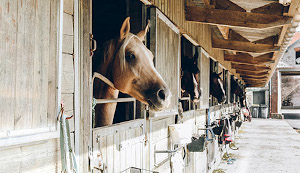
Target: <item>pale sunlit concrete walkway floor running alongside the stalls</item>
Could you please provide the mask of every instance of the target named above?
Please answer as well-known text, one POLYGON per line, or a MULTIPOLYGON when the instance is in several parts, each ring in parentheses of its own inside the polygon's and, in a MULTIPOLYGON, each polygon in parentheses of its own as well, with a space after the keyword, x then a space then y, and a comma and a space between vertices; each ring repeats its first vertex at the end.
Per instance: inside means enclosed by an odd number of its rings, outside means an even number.
POLYGON ((285 120, 252 119, 236 136, 229 149, 236 161, 222 161, 214 172, 221 173, 300 173, 300 134, 285 120))

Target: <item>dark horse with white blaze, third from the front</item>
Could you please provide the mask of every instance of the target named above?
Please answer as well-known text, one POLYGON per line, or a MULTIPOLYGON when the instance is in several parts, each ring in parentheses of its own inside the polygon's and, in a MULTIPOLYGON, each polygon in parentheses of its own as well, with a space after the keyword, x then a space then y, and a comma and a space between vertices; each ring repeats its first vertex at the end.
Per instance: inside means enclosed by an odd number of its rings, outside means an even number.
POLYGON ((226 93, 223 87, 223 80, 221 79, 221 73, 215 72, 210 74, 210 94, 217 98, 218 103, 224 103, 226 101, 226 93))

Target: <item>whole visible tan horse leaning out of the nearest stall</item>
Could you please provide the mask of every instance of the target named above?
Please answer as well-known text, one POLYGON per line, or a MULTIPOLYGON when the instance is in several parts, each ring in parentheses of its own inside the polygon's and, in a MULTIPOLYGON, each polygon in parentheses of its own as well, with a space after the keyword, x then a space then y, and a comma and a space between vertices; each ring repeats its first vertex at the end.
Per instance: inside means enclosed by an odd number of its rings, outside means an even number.
MULTIPOLYGON (((94 80, 93 96, 99 99, 117 99, 119 91, 149 105, 154 111, 166 109, 171 101, 171 91, 154 68, 153 54, 143 44, 149 28, 138 34, 130 33, 130 17, 120 29, 120 35, 104 43, 100 63, 93 64, 94 74, 105 80, 94 80)), ((97 62, 96 60, 93 63, 97 62)), ((95 75, 94 75, 95 76, 95 75)), ((95 127, 113 123, 117 103, 99 104, 95 107, 95 127)))

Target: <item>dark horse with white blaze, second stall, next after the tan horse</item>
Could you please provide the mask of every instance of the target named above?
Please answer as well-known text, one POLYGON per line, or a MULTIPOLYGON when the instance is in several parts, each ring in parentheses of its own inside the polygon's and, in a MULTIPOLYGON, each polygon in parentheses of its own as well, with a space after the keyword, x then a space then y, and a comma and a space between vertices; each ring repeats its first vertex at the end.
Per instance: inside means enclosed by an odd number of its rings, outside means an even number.
POLYGON ((198 51, 192 58, 182 56, 181 61, 181 94, 187 92, 190 95, 192 102, 199 102, 201 95, 198 85, 198 74, 200 70, 197 66, 198 51))

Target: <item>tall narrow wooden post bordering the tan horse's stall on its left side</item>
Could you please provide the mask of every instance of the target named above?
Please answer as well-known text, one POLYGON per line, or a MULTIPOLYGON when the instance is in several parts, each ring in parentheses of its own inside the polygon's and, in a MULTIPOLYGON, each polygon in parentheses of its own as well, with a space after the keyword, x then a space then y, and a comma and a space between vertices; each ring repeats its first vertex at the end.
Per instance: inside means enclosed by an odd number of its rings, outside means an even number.
POLYGON ((86 0, 81 2, 81 10, 83 12, 83 15, 81 20, 84 25, 82 25, 82 37, 80 40, 81 46, 82 46, 82 66, 80 69, 82 69, 82 74, 80 74, 80 81, 82 84, 81 85, 81 93, 82 94, 82 100, 81 100, 81 105, 80 107, 82 108, 81 112, 81 121, 80 123, 80 155, 81 159, 79 162, 79 166, 81 169, 81 172, 89 172, 89 163, 88 163, 88 148, 91 146, 90 142, 90 137, 91 137, 91 100, 92 100, 92 95, 91 95, 91 58, 90 58, 90 35, 89 33, 91 32, 91 1, 86 0))

